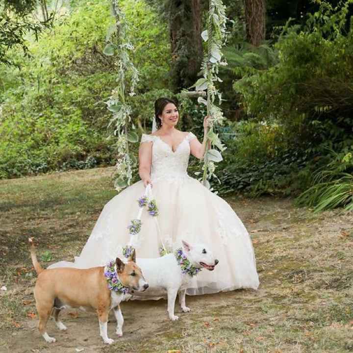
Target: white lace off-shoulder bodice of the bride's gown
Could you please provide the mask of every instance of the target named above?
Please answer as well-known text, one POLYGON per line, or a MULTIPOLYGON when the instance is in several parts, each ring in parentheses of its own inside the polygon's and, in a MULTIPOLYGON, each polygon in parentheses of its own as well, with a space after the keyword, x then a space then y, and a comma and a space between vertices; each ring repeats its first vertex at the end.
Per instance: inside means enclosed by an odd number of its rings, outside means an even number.
POLYGON ((196 136, 189 132, 177 146, 176 151, 159 136, 143 134, 141 143, 152 142, 152 182, 158 179, 180 179, 187 175, 190 156, 190 141, 196 136))

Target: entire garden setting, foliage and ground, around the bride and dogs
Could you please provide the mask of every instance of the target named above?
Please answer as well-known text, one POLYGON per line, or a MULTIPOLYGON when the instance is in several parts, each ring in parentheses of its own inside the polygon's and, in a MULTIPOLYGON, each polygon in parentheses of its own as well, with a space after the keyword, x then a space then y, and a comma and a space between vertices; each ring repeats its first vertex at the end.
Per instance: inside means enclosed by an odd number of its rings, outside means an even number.
POLYGON ((129 127, 150 133, 153 101, 171 96, 178 127, 202 137, 205 106, 182 91, 201 77, 207 0, 0 0, 0 352, 352 352, 353 0, 223 0, 215 132, 227 149, 210 181, 249 231, 259 289, 188 298, 177 323, 165 301, 122 303, 124 336, 111 316, 109 347, 96 316, 75 310, 67 331, 50 321, 55 344, 40 336, 28 237, 43 267, 71 261, 117 193, 113 2, 140 74, 129 127))

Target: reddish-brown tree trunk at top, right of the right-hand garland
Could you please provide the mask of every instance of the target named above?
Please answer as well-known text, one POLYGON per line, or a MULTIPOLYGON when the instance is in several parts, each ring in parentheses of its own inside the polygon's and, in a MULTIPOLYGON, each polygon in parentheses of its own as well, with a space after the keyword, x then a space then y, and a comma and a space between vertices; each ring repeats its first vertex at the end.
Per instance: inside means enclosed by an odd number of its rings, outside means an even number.
POLYGON ((247 39, 253 46, 258 47, 266 35, 266 1, 244 0, 244 7, 247 39))

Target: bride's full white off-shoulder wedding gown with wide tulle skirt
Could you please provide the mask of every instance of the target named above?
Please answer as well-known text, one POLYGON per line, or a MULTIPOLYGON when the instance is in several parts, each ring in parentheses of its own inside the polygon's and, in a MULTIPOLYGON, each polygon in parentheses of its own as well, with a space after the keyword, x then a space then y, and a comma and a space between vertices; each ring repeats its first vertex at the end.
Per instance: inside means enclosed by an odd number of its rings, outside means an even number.
MULTIPOLYGON (((246 228, 227 202, 186 172, 189 143, 193 138, 196 136, 190 132, 173 152, 158 136, 142 135, 141 143, 153 144, 151 181, 159 215, 152 217, 147 210, 143 211, 137 257, 160 256, 160 237, 169 250, 179 248, 181 240, 191 244, 200 242, 211 249, 219 264, 214 271, 204 269, 193 277, 187 294, 256 289, 259 279, 246 228)), ((143 182, 138 181, 115 196, 104 206, 75 262, 61 261, 50 268, 103 266, 121 255, 122 247, 130 239, 127 226, 136 218, 139 212, 137 200, 144 193, 143 182)))

